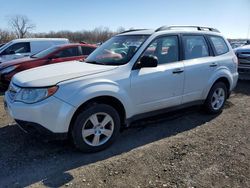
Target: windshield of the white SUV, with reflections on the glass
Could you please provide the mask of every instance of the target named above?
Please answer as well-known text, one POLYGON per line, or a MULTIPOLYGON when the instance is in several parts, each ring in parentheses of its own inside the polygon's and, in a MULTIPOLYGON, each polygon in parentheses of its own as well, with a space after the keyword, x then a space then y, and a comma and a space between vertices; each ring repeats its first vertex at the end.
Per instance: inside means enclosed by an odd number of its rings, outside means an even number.
POLYGON ((122 65, 130 61, 148 35, 124 35, 109 39, 86 59, 87 63, 122 65))

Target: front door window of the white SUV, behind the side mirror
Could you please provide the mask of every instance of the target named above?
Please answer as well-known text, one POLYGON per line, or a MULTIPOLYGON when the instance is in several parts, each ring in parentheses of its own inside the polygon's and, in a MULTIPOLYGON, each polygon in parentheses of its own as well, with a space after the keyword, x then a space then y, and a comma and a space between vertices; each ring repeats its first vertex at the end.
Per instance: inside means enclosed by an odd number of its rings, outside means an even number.
POLYGON ((176 62, 179 59, 177 36, 166 36, 155 39, 142 56, 153 55, 158 59, 158 64, 176 62))

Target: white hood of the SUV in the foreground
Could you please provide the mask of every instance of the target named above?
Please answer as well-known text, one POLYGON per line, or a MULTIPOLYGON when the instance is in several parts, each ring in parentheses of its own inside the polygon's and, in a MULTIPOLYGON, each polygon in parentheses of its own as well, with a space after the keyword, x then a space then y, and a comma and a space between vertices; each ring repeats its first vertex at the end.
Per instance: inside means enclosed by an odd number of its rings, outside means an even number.
POLYGON ((13 77, 12 82, 20 87, 46 87, 65 80, 97 74, 115 68, 117 66, 68 61, 20 72, 13 77))

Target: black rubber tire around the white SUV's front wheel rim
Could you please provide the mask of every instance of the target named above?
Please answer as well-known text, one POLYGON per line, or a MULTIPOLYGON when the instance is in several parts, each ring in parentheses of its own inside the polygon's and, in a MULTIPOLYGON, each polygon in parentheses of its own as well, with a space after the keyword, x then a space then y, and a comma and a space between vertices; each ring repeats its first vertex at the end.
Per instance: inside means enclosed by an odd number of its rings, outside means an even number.
MULTIPOLYGON (((94 125, 94 124, 92 124, 92 125, 94 125)), ((115 139, 119 135, 120 126, 121 126, 120 116, 112 106, 109 106, 106 104, 93 104, 77 116, 76 121, 75 121, 73 128, 72 128, 72 131, 71 131, 73 143, 74 143, 75 147, 77 149, 81 150, 82 152, 90 153, 90 152, 101 151, 101 150, 109 147, 115 141, 115 139), (86 140, 86 138, 84 138, 84 136, 82 135, 82 130, 83 130, 85 124, 91 122, 89 120, 89 118, 92 115, 98 114, 98 113, 108 114, 112 118, 112 120, 113 120, 113 126, 112 126, 113 132, 112 132, 112 135, 110 136, 110 138, 102 145, 91 146, 90 143, 87 143, 88 140, 86 140)), ((92 135, 93 135, 93 140, 94 140, 95 134, 92 134, 92 135)), ((102 136, 106 136, 106 135, 103 134, 102 136)), ((99 138, 100 138, 100 136, 99 136, 99 138)))

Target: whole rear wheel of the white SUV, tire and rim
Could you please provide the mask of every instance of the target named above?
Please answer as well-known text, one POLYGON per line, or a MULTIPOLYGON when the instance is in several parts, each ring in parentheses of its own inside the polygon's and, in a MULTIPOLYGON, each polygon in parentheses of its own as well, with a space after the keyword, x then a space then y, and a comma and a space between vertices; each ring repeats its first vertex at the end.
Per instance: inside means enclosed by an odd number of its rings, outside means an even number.
POLYGON ((211 114, 222 112, 226 102, 228 90, 223 82, 217 82, 210 89, 207 99, 205 101, 205 110, 211 114))

